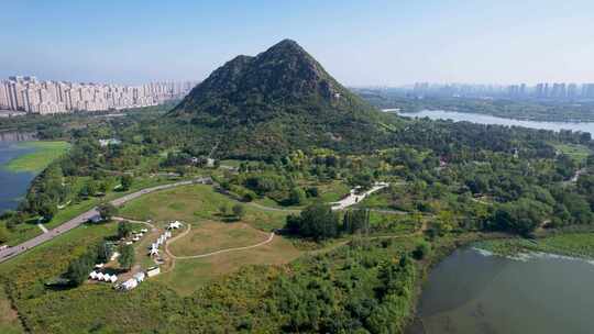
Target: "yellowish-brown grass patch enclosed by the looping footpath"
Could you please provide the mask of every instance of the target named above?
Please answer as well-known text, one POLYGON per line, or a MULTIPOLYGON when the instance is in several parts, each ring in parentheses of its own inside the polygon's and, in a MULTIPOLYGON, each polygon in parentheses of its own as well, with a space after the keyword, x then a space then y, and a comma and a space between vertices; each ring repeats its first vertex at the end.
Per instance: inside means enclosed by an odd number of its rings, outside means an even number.
POLYGON ((244 223, 198 223, 189 234, 169 245, 176 256, 191 256, 220 249, 244 247, 268 238, 268 234, 244 223))

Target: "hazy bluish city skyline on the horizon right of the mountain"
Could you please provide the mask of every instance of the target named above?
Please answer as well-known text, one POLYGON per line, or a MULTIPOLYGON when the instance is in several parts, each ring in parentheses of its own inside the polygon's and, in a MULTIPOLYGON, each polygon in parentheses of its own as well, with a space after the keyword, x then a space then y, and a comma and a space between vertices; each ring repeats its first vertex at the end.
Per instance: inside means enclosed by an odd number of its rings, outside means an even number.
POLYGON ((594 84, 468 85, 418 82, 404 89, 414 97, 509 98, 543 100, 592 100, 594 84))

